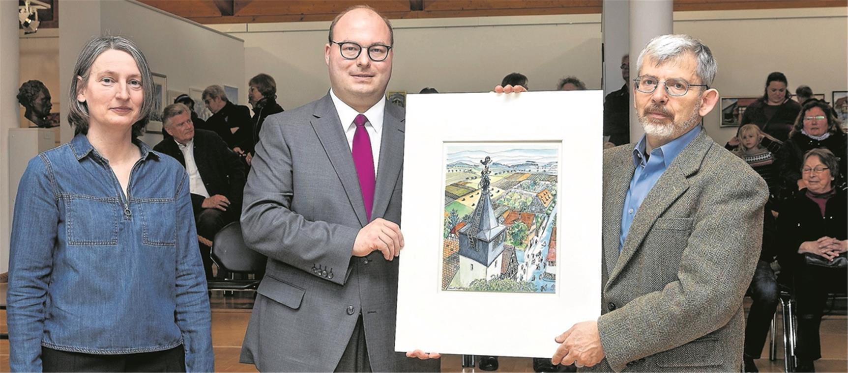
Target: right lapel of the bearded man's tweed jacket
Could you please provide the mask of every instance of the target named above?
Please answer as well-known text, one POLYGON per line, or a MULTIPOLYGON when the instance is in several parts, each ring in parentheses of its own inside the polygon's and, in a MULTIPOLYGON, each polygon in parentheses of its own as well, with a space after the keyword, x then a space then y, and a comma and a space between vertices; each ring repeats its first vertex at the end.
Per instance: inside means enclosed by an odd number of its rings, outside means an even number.
MULTIPOLYGON (((650 192, 648 192, 648 195, 642 201, 642 205, 639 206, 639 211, 636 211, 636 216, 633 217, 633 224, 630 225, 628 237, 624 239, 622 252, 618 255, 618 260, 610 273, 607 284, 615 280, 616 276, 624 269, 624 266, 627 266, 628 261, 636 253, 636 250, 641 248, 645 236, 647 236, 650 228, 654 226, 656 219, 669 206, 672 206, 672 203, 680 195, 683 195, 683 192, 689 189, 688 178, 698 172, 706 156, 706 151, 710 149, 711 145, 712 140, 702 129, 700 134, 674 158, 666 171, 656 181, 654 187, 650 189, 650 192)), ((621 209, 617 213, 619 216, 619 226, 621 226, 621 209)))

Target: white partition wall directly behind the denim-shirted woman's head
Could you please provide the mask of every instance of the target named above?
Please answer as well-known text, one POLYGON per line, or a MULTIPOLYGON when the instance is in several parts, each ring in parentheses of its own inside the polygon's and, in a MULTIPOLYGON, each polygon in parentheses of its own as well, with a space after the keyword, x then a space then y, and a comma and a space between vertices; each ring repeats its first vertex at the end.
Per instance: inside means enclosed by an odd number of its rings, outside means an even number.
MULTIPOLYGON (((203 90, 208 85, 231 85, 238 87, 239 101, 247 101, 244 46, 235 36, 134 1, 63 3, 59 33, 60 54, 66 52, 59 58, 64 71, 62 87, 70 85, 71 70, 86 41, 96 35, 116 35, 134 41, 150 69, 167 76, 166 90, 188 93, 189 87, 203 90)), ((64 107, 62 139, 67 141, 73 135, 70 128, 64 128, 64 107)), ((152 140, 146 141, 155 145, 161 136, 148 138, 152 140)))

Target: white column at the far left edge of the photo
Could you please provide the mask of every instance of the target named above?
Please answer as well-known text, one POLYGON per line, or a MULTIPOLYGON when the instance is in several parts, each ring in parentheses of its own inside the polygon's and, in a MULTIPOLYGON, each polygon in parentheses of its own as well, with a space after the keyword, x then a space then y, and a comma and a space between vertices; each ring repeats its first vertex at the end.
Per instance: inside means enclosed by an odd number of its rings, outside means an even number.
POLYGON ((8 271, 12 196, 8 185, 8 130, 18 123, 18 2, 0 1, 0 272, 8 271))

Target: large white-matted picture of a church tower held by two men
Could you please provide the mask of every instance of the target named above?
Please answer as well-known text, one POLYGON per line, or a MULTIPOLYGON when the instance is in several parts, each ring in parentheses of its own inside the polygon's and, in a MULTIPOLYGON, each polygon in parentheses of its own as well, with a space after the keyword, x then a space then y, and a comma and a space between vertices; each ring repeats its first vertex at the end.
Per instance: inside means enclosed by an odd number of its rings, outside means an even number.
POLYGON ((603 92, 406 98, 395 350, 552 356, 600 315, 603 92))

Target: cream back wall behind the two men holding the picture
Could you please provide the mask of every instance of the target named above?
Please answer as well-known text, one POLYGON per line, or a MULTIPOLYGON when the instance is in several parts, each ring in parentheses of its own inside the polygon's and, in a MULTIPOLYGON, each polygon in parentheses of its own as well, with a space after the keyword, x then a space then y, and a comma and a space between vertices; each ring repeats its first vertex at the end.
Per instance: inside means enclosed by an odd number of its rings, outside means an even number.
MULTIPOLYGON (((828 101, 831 91, 848 86, 845 7, 676 12, 674 19, 674 32, 711 47, 719 64, 714 85, 722 95, 761 94, 772 71, 783 71, 792 91, 810 85, 828 101)), ((601 88, 600 14, 397 19, 393 25, 397 48, 389 91, 412 93, 425 86, 490 91, 513 71, 527 74, 533 90, 552 90, 569 74, 590 89, 601 88)), ((323 60, 328 27, 329 22, 215 26, 244 39, 244 80, 271 74, 286 108, 313 101, 329 88, 323 60)), ((620 72, 607 76, 611 85, 623 84, 620 72)), ((735 129, 719 128, 718 118, 714 110, 705 124, 723 143, 735 129)))

